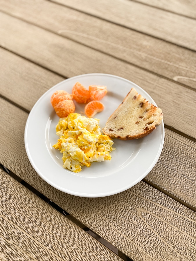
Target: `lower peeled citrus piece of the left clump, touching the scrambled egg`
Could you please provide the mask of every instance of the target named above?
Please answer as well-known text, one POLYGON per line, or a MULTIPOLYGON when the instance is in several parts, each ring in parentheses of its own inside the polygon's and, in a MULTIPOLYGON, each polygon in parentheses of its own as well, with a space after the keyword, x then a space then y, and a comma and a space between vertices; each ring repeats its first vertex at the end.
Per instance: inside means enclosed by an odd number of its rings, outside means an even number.
POLYGON ((69 113, 74 113, 75 111, 75 104, 73 100, 64 100, 60 101, 58 104, 54 106, 56 114, 60 118, 67 117, 69 113))

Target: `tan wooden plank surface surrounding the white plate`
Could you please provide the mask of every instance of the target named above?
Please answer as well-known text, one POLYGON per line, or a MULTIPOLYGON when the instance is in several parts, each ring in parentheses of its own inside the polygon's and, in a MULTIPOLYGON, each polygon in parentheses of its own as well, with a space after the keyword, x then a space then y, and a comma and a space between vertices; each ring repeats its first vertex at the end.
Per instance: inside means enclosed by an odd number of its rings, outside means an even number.
MULTIPOLYGON (((196 138, 196 20, 194 2, 181 13, 185 4, 0 0, 0 163, 133 260, 196 259, 196 144, 190 140, 196 138), (54 189, 34 171, 25 151, 24 128, 28 112, 46 90, 67 77, 96 72, 141 86, 162 108, 166 126, 192 138, 166 128, 161 156, 144 179, 148 184, 141 181, 109 197, 82 198, 54 189)), ((36 254, 51 260, 54 253, 53 260, 62 260, 67 253, 67 260, 105 260, 105 255, 119 260, 0 174, 1 258, 19 260, 21 253, 24 260, 36 259, 36 254), (31 222, 25 222, 27 218, 31 222), (74 242, 85 246, 79 255, 74 242), (7 245, 15 249, 12 256, 7 245)))

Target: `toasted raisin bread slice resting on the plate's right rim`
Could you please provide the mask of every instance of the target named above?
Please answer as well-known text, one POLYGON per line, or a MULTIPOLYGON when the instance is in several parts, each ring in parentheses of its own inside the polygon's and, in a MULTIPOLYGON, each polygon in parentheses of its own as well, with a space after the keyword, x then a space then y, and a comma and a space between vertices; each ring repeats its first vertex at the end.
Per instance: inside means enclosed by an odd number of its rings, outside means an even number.
POLYGON ((150 104, 134 88, 109 117, 103 133, 123 140, 139 139, 150 134, 163 119, 160 108, 150 104))

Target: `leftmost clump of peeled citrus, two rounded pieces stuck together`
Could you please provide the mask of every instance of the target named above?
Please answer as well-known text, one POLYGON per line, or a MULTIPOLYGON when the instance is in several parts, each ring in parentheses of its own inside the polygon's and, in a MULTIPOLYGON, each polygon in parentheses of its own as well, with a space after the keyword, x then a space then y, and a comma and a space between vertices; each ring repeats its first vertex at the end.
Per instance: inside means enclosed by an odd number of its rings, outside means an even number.
POLYGON ((53 93, 51 104, 60 118, 66 117, 69 113, 75 111, 75 104, 71 95, 64 90, 57 90, 53 93))

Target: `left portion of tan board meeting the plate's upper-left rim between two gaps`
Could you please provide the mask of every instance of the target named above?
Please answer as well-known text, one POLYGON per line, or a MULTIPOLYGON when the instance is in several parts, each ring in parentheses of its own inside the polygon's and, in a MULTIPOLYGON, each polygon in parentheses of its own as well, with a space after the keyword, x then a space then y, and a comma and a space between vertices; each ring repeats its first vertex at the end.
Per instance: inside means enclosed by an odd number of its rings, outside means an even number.
POLYGON ((26 110, 30 111, 38 97, 65 79, 2 48, 0 57, 0 93, 26 110))

